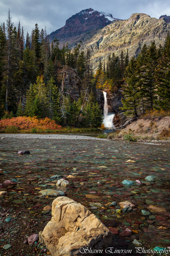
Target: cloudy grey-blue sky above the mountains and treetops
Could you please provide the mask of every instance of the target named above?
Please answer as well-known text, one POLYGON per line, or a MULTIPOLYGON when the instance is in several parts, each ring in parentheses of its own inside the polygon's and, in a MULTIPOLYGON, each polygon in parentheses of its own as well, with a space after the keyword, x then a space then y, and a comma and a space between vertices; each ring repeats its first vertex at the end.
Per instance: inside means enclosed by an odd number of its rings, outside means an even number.
POLYGON ((111 13, 113 17, 127 19, 132 13, 143 12, 151 17, 170 15, 170 0, 0 0, 0 23, 6 21, 10 8, 14 26, 20 20, 29 34, 38 23, 51 33, 65 25, 72 15, 88 8, 111 13))

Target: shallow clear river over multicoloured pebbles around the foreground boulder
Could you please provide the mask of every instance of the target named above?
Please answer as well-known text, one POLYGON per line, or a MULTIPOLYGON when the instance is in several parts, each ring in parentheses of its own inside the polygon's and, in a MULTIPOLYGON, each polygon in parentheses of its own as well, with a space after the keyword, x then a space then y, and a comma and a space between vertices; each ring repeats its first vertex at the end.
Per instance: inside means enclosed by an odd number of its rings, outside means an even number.
POLYGON ((0 243, 12 246, 8 251, 1 247, 2 253, 6 253, 2 255, 46 255, 45 247, 40 244, 31 246, 23 242, 42 230, 51 219, 51 212, 43 208, 51 205, 54 198, 42 198, 38 192, 57 189, 57 179, 50 178, 53 175, 66 178, 69 186, 59 190, 88 207, 107 227, 115 227, 118 233, 126 228, 133 230, 131 237, 119 234, 113 237, 118 246, 128 247, 137 239, 147 248, 169 247, 169 152, 169 143, 148 145, 122 140, 42 140, 36 137, 0 140, 0 168, 4 170, 0 173, 0 183, 12 179, 17 183, 0 189, 7 191, 0 203, 3 227, 0 243), (29 150, 30 154, 18 155, 19 150, 29 150), (148 175, 155 180, 145 180, 148 175), (125 186, 123 180, 134 183, 125 186), (116 206, 110 206, 113 201, 116 206), (122 201, 132 202, 135 209, 117 211, 122 201), (101 207, 96 209, 91 203, 100 203, 101 207), (150 211, 152 217, 142 215, 141 210, 149 211, 150 205, 161 207, 162 211, 150 211))

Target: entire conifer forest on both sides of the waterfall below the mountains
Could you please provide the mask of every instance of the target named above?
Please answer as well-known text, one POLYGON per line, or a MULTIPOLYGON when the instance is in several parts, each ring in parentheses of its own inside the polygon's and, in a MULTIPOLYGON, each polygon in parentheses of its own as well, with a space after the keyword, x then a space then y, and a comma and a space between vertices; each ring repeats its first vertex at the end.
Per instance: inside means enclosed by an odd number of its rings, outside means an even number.
POLYGON ((122 111, 140 116, 147 110, 170 109, 170 35, 156 48, 153 41, 144 44, 139 55, 129 60, 128 50, 99 61, 94 72, 91 52, 59 47, 50 42, 46 29, 38 24, 24 37, 20 21, 14 27, 10 10, 0 26, 0 118, 13 116, 48 117, 59 125, 100 127, 102 110, 96 90, 123 90, 122 111), (71 99, 64 93, 57 72, 62 67, 75 70, 81 82, 80 96, 71 99))

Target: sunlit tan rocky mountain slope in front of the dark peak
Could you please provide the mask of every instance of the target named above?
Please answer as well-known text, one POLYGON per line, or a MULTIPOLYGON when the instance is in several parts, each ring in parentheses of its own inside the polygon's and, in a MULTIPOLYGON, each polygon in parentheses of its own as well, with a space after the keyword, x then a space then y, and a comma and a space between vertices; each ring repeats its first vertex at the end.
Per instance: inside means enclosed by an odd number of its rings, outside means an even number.
POLYGON ((136 13, 127 20, 114 20, 98 31, 91 39, 82 42, 82 49, 91 49, 92 65, 94 69, 99 64, 99 59, 107 62, 108 55, 121 51, 129 51, 129 56, 136 56, 144 44, 149 45, 155 40, 156 46, 163 46, 167 32, 170 31, 170 23, 164 20, 152 18, 143 13, 136 13))

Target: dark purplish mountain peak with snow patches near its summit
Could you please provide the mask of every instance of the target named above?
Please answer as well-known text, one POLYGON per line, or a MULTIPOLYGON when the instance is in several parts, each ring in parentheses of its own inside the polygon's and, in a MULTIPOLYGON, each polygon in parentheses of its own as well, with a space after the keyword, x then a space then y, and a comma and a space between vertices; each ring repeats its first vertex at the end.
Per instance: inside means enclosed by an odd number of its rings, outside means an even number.
POLYGON ((59 39, 61 47, 67 42, 69 47, 74 47, 80 40, 85 42, 113 20, 119 19, 113 18, 111 14, 98 12, 91 8, 85 9, 66 20, 65 26, 52 32, 49 38, 51 41, 55 37, 59 39))

